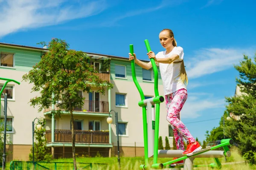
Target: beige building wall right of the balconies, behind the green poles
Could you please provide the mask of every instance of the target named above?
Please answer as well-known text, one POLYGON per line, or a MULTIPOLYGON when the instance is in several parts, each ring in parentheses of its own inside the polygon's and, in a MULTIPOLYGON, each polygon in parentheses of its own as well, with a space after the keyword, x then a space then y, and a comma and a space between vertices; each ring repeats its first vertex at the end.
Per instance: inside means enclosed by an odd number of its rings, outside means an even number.
MULTIPOLYGON (((111 109, 118 112, 119 122, 127 123, 127 135, 119 136, 119 144, 123 147, 134 147, 135 142, 137 147, 144 147, 143 142, 143 117, 142 108, 138 105, 140 101, 140 94, 134 84, 134 82, 129 82, 125 80, 111 80, 114 84, 114 88, 111 89, 111 109), (127 107, 116 106, 115 95, 116 93, 127 94, 126 101, 127 107)), ((143 82, 140 83, 145 96, 154 96, 154 83, 143 82)), ((163 94, 163 85, 158 85, 159 94, 163 94)), ((114 115, 113 115, 114 116, 114 115)), ((165 137, 169 139, 169 144, 172 147, 172 139, 169 138, 169 122, 166 120, 167 112, 165 101, 160 104, 160 127, 159 136, 162 136, 163 146, 165 147, 165 137)), ((114 117, 113 117, 114 119, 114 117)), ((112 142, 114 146, 117 145, 116 139, 116 126, 115 121, 111 125, 112 128, 112 142)))

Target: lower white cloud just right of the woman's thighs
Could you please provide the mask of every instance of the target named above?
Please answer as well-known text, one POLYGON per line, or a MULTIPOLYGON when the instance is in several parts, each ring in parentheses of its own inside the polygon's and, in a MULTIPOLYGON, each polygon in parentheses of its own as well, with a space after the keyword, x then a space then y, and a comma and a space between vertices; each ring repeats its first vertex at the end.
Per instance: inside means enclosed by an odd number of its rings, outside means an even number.
POLYGON ((202 116, 200 112, 213 108, 224 108, 225 100, 212 97, 213 94, 207 93, 189 93, 182 110, 181 119, 197 118, 202 116), (207 97, 206 97, 207 96, 207 97))

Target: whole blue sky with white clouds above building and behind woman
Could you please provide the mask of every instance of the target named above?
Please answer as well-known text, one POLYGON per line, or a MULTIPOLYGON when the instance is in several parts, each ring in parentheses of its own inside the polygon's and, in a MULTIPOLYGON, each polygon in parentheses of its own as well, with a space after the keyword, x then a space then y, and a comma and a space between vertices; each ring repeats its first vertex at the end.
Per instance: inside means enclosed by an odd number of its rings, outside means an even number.
MULTIPOLYGON (((128 57, 129 44, 148 59, 144 40, 162 51, 163 28, 184 49, 189 77, 181 119, 200 141, 218 126, 225 96, 235 93, 233 65, 256 52, 254 0, 0 0, 0 42, 38 46, 53 37, 70 48, 128 57)), ((39 47, 39 46, 38 46, 39 47)))

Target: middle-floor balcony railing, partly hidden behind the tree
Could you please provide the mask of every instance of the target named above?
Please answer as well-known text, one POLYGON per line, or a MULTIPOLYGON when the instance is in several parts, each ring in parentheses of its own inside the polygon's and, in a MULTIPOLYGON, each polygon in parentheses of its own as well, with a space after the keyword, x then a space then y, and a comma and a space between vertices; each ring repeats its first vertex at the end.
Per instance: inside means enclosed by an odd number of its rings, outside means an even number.
MULTIPOLYGON (((56 107, 56 105, 55 105, 56 107)), ((58 108, 56 108, 58 109, 58 108)), ((46 109, 44 112, 51 111, 52 108, 46 109)), ((83 107, 74 108, 74 111, 78 112, 94 112, 94 113, 108 113, 108 102, 95 101, 95 100, 84 100, 83 107)))

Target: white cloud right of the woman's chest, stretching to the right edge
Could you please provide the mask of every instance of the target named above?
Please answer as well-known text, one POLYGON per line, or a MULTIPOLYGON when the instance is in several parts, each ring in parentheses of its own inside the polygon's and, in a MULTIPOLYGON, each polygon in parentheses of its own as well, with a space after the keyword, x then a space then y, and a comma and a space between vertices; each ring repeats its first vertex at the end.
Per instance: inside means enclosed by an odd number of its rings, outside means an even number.
POLYGON ((243 54, 253 56, 253 48, 204 48, 195 52, 194 57, 188 57, 186 69, 189 79, 195 79, 207 74, 233 68, 243 59, 243 54))

